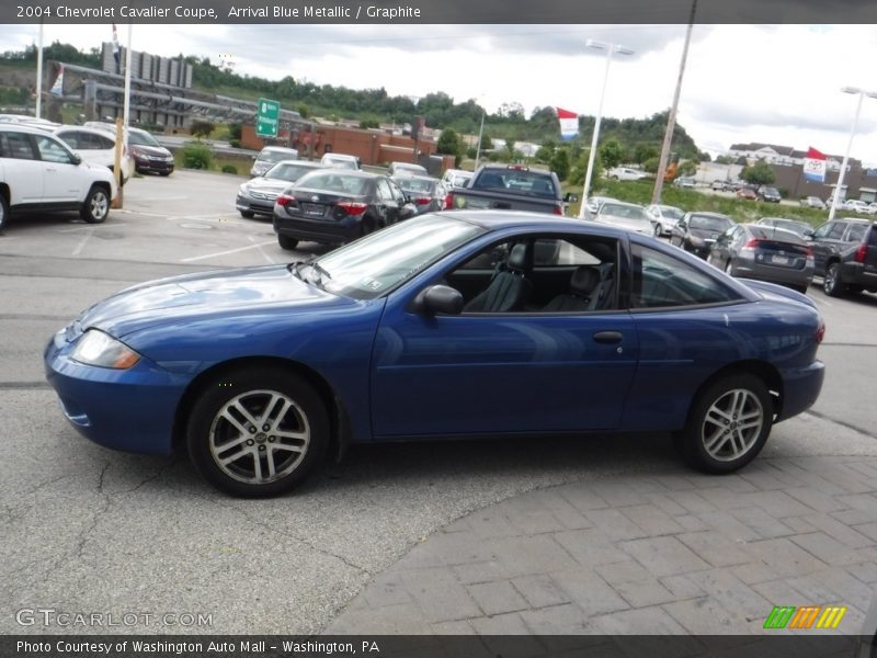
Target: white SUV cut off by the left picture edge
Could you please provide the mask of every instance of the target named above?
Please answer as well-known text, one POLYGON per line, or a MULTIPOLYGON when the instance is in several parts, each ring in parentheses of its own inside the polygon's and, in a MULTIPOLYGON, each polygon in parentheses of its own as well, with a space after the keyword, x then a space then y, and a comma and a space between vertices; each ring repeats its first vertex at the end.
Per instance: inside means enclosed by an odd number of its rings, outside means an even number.
POLYGON ((79 211, 89 224, 110 214, 112 172, 89 164, 60 139, 24 125, 0 125, 0 228, 18 211, 79 211))

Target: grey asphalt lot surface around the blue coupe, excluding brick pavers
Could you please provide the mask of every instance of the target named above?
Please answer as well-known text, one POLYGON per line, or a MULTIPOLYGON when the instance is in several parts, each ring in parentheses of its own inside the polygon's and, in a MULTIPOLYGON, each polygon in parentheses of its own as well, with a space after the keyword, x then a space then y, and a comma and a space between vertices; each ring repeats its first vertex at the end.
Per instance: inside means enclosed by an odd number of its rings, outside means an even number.
MULTIPOLYGON (((389 445, 353 451, 294 496, 241 501, 216 494, 182 456, 113 453, 81 439, 44 383, 41 352, 54 331, 147 279, 299 258, 280 248, 270 222, 240 218, 240 182, 189 171, 134 179, 125 208, 103 225, 27 217, 0 237, 0 632, 46 632, 14 616, 44 606, 213 615, 209 627, 166 632, 314 633, 467 512, 563 483, 686 473, 665 436, 546 440, 538 461, 525 441, 389 445)), ((303 243, 299 254, 326 250, 303 243)), ((828 325, 823 394, 811 413, 776 427, 762 458, 877 455, 877 297, 809 294, 828 325)), ((160 628, 113 629, 127 631, 160 628)))

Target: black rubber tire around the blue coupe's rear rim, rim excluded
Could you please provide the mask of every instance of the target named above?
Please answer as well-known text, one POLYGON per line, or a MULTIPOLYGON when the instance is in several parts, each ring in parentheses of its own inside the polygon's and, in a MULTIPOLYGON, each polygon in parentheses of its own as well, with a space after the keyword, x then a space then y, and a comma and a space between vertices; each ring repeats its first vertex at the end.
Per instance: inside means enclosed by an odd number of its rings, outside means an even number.
POLYGON ((773 400, 764 383, 755 375, 748 373, 729 375, 709 384, 697 396, 688 413, 688 422, 685 426, 685 430, 679 436, 676 446, 685 461, 698 470, 713 474, 733 473, 758 456, 771 434, 772 426, 773 400), (737 388, 747 389, 759 398, 762 409, 764 410, 764 418, 762 419, 761 432, 749 451, 737 460, 721 462, 707 453, 704 446, 702 429, 706 412, 713 404, 729 390, 737 388))

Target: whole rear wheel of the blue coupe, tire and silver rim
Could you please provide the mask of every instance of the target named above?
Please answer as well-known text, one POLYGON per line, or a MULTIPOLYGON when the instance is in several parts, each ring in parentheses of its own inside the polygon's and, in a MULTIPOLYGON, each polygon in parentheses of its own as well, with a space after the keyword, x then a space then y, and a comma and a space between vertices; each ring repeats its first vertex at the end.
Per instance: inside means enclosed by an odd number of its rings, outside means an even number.
POLYGON ((676 449, 692 467, 704 473, 733 473, 764 447, 773 424, 773 400, 756 376, 722 377, 694 402, 676 449))

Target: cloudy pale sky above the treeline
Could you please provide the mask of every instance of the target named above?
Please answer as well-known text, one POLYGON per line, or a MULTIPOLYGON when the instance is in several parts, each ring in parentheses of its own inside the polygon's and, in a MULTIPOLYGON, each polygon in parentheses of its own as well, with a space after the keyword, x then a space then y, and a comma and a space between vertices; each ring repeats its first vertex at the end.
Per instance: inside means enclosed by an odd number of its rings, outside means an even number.
MULTIPOLYGON (((10 26, 11 27, 11 26, 10 26)), ((240 73, 390 95, 444 91, 488 111, 517 102, 594 115, 606 68, 588 39, 620 44, 613 57, 603 116, 642 118, 667 110, 685 25, 136 25, 133 48, 183 53, 240 73)), ((4 29, 0 50, 37 41, 38 27, 4 29)), ((110 41, 107 25, 45 25, 44 43, 82 49, 110 41)), ((127 25, 118 26, 123 45, 127 25)), ((677 123, 713 156, 760 141, 843 156, 858 97, 877 92, 876 25, 695 25, 677 123)), ((851 156, 877 166, 877 99, 864 98, 851 156)))

